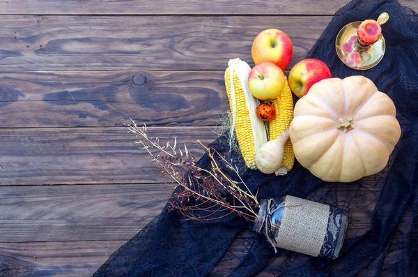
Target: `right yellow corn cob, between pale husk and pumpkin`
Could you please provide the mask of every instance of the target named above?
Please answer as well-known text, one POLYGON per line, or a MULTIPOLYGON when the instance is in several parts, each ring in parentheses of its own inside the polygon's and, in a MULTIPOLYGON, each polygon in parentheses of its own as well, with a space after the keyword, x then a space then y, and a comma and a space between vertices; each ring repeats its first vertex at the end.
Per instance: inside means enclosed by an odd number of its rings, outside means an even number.
MULTIPOLYGON (((274 140, 283 133, 284 130, 291 126, 293 119, 293 98, 287 78, 284 81, 284 88, 283 91, 281 91, 281 95, 273 100, 273 106, 276 110, 276 116, 269 123, 269 140, 274 140)), ((295 153, 293 153, 291 140, 288 140, 284 145, 283 161, 281 162, 281 167, 276 172, 276 175, 286 174, 292 169, 294 163, 295 153)))

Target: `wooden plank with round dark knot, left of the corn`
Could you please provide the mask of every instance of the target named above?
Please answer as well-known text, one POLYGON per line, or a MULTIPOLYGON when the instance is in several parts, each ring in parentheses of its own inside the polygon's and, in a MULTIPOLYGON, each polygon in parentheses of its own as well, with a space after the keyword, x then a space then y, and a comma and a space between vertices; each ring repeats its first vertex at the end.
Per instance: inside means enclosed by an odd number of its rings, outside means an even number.
POLYGON ((229 110, 224 70, 0 74, 0 128, 214 126, 229 110))

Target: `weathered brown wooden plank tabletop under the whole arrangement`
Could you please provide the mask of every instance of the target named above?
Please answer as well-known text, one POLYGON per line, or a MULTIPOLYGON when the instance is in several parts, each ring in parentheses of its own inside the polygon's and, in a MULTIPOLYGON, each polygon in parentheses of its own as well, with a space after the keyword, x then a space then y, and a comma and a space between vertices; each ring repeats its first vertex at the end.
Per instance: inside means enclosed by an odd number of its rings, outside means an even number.
POLYGON ((0 276, 93 274, 171 194, 123 124, 200 156, 229 109, 228 60, 252 66, 277 28, 292 66, 346 3, 1 0, 0 276))

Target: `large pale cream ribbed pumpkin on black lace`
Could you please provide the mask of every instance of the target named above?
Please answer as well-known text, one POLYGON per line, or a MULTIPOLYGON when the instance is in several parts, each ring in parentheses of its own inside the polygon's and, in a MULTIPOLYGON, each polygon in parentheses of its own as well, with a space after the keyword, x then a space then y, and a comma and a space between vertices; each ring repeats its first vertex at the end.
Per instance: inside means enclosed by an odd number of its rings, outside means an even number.
POLYGON ((295 157, 324 181, 376 174, 401 137, 395 115, 392 100, 366 77, 321 80, 295 105, 295 157))

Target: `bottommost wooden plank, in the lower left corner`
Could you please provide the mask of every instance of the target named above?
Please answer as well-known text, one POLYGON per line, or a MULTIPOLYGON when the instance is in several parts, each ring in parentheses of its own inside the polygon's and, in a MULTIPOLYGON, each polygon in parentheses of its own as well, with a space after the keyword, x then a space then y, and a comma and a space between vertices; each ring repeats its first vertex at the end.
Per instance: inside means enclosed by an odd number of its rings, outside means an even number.
POLYGON ((0 275, 91 276, 125 241, 0 244, 0 275))

